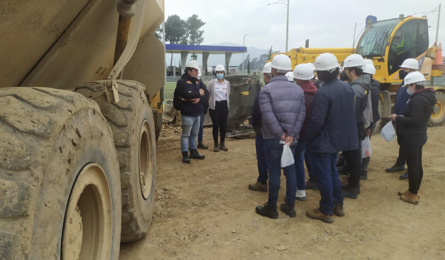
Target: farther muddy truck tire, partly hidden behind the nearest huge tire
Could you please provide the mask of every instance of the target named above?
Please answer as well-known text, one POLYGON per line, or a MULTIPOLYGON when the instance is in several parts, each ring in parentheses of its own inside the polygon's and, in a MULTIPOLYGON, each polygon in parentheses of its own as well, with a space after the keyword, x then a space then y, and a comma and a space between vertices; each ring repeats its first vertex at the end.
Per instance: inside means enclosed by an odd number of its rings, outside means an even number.
POLYGON ((107 103, 103 81, 86 83, 75 91, 96 101, 111 126, 122 183, 121 241, 129 242, 144 237, 153 218, 155 127, 144 85, 123 80, 117 83, 118 103, 107 103))

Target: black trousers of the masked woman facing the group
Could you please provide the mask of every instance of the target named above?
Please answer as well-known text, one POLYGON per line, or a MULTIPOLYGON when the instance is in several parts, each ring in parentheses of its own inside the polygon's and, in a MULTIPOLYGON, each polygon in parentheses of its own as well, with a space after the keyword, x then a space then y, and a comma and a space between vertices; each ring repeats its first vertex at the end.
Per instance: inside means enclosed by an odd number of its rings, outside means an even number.
POLYGON ((220 133, 220 141, 223 143, 226 138, 227 118, 229 118, 229 107, 227 101, 216 101, 215 109, 209 109, 210 118, 213 125, 213 141, 218 144, 218 132, 220 133))

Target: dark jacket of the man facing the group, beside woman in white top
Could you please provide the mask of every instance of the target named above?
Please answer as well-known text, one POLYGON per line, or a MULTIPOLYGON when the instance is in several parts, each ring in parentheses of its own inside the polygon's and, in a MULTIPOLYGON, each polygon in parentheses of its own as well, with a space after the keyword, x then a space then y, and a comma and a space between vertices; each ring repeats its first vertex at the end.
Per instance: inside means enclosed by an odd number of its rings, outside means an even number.
POLYGON ((203 113, 203 103, 199 102, 196 105, 192 104, 190 99, 201 99, 199 93, 200 83, 195 77, 190 77, 187 74, 183 74, 181 79, 176 83, 175 93, 173 99, 180 100, 186 99, 186 101, 180 102, 181 115, 184 116, 201 116, 203 113))

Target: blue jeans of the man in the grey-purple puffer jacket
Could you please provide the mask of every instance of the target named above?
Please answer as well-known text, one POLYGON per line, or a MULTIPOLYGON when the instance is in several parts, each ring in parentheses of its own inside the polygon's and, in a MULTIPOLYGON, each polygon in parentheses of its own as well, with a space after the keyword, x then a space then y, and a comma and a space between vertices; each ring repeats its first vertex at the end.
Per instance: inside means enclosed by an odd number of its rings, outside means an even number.
MULTIPOLYGON (((283 144, 280 138, 264 139, 264 149, 267 151, 267 166, 269 170, 269 200, 268 205, 277 206, 278 192, 280 189, 281 177, 281 155, 283 154, 283 144)), ((290 146, 292 154, 295 153, 295 145, 290 146)), ((286 177, 286 201, 294 203, 296 194, 295 164, 283 168, 286 177)))

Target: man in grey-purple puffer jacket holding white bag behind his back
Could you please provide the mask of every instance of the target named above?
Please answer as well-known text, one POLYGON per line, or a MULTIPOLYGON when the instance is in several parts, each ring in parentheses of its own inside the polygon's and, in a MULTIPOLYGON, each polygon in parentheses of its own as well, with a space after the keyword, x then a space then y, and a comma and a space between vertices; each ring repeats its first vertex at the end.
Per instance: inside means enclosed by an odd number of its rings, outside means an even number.
MULTIPOLYGON (((269 172, 269 198, 263 206, 255 208, 255 212, 268 218, 278 218, 277 200, 280 188, 281 155, 283 146, 288 144, 292 155, 303 122, 305 121, 305 99, 303 90, 290 83, 285 74, 291 68, 290 57, 276 55, 270 66, 272 67, 272 79, 259 92, 259 109, 262 114, 262 131, 264 148, 269 172)), ((280 205, 281 211, 296 217, 295 194, 296 175, 295 165, 283 167, 286 178, 286 203, 280 205)))

